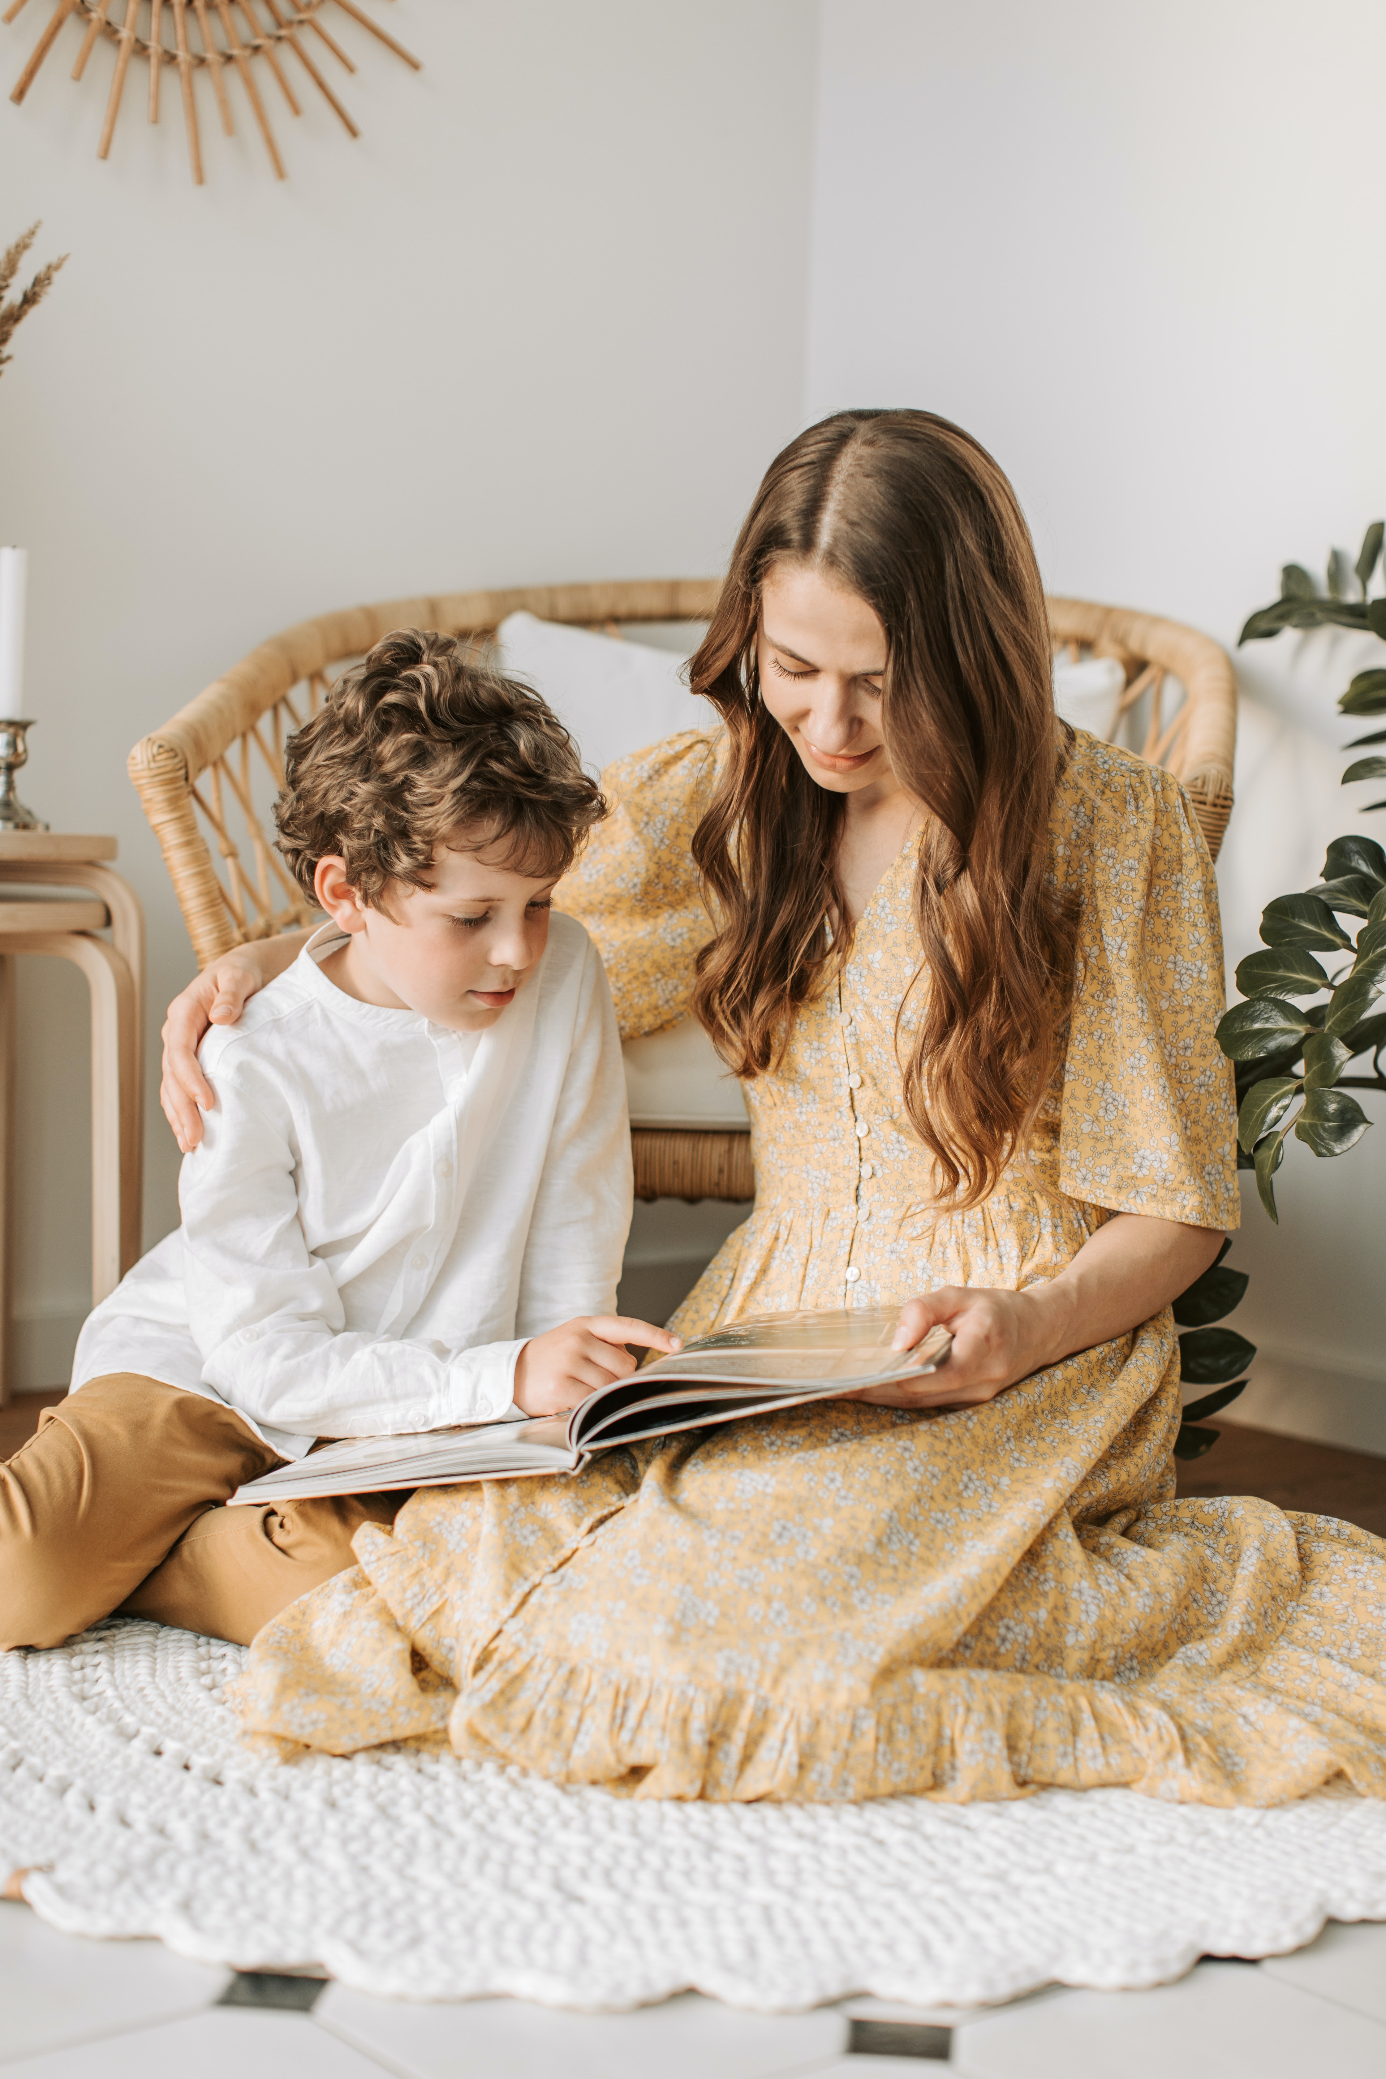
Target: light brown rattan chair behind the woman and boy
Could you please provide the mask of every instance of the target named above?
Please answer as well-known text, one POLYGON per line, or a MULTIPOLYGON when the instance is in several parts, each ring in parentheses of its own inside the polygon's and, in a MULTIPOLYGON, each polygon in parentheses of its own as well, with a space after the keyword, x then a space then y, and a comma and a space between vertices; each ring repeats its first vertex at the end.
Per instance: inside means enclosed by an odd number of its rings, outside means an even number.
MULTIPOLYGON (((640 622, 707 620, 717 590, 715 578, 646 578, 449 593, 322 613, 270 636, 129 757, 197 965, 314 919, 266 836, 285 736, 318 709, 343 665, 391 628, 438 628, 484 640, 507 613, 524 609, 540 620, 617 632, 640 622)), ((1083 599, 1051 599, 1049 628, 1056 651, 1074 659, 1120 659, 1124 728, 1139 721, 1143 757, 1182 780, 1216 854, 1232 809, 1236 742, 1236 680, 1226 653, 1178 622, 1083 599), (1182 686, 1182 699, 1170 680, 1182 686)), ((632 1139, 640 1198, 754 1195, 748 1133, 638 1131, 632 1139)))

